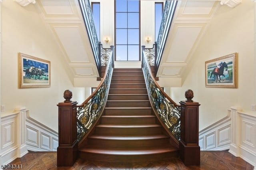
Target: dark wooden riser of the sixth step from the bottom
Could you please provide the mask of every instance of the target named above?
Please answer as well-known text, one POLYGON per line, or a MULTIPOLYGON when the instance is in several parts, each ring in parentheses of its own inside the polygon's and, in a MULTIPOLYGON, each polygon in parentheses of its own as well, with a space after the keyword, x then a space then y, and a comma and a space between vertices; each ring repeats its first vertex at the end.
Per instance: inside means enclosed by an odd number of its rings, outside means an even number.
POLYGON ((107 101, 106 107, 150 107, 149 101, 107 101))

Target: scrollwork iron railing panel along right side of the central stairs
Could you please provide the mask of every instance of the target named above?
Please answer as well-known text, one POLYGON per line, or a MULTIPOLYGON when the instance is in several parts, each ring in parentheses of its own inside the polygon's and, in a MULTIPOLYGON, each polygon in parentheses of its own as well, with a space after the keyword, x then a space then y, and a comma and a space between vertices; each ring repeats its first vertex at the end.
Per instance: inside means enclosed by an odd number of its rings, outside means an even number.
POLYGON ((142 70, 146 81, 150 102, 154 112, 177 140, 180 140, 181 107, 176 104, 158 85, 151 73, 150 65, 142 46, 142 70))

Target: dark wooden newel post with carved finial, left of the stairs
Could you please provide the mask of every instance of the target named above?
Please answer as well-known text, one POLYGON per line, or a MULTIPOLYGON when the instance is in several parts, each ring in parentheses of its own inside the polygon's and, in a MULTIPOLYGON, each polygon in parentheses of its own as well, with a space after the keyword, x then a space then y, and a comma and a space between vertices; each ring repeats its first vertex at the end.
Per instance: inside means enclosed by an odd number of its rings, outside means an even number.
POLYGON ((71 101, 72 91, 64 91, 64 102, 58 103, 59 146, 57 166, 73 166, 77 158, 76 101, 71 101))

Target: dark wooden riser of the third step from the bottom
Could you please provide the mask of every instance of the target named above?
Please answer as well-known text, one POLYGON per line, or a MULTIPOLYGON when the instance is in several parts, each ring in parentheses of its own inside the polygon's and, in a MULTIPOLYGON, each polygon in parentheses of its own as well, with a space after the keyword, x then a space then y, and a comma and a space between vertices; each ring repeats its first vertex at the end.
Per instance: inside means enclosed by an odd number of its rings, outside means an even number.
POLYGON ((102 135, 145 135, 161 134, 160 127, 96 127, 95 134, 102 135))

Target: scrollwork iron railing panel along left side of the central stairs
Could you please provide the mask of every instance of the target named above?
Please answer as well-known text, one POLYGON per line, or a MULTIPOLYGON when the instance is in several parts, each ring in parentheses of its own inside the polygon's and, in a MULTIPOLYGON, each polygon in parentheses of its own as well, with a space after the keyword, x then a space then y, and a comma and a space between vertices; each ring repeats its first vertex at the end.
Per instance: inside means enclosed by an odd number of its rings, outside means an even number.
POLYGON ((110 81, 113 72, 114 46, 111 46, 110 59, 106 65, 105 75, 96 88, 84 103, 77 105, 77 140, 84 138, 90 128, 96 123, 106 105, 110 81))

